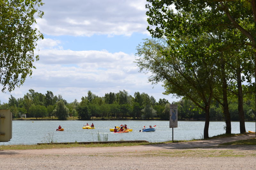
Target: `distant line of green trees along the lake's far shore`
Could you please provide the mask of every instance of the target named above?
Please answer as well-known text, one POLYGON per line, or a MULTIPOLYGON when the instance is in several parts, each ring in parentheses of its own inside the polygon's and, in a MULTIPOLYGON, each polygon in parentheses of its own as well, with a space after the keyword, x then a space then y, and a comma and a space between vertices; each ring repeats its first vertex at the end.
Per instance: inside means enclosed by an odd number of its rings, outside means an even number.
MULTIPOLYGON (((12 95, 8 103, 0 103, 0 109, 10 109, 13 118, 20 118, 26 114, 27 117, 44 118, 58 117, 59 120, 67 120, 68 117, 77 116, 80 120, 90 120, 94 118, 102 119, 133 119, 169 120, 170 103, 166 99, 156 99, 147 93, 135 92, 129 95, 128 92, 105 93, 99 97, 88 91, 87 96, 81 98, 81 102, 76 99, 68 103, 61 95, 54 96, 51 91, 42 94, 30 89, 23 98, 16 99, 12 95)), ((236 101, 229 103, 231 121, 238 121, 238 104, 236 101)), ((210 108, 211 121, 224 121, 223 109, 218 102, 212 102, 210 108)), ((255 120, 253 104, 251 99, 244 100, 245 120, 255 120)), ((191 100, 182 99, 174 102, 178 104, 179 120, 204 120, 205 115, 191 100)))

